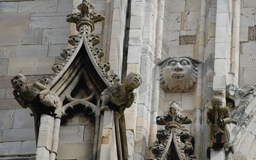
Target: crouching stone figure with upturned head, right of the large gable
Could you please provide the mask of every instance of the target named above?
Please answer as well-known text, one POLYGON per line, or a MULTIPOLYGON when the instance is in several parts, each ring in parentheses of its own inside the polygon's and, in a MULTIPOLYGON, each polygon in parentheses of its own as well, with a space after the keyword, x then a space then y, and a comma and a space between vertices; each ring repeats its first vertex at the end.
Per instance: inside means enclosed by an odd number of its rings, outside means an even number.
POLYGON ((107 106, 109 102, 124 107, 124 109, 129 108, 135 99, 133 90, 140 85, 141 76, 135 72, 131 72, 126 76, 124 84, 115 82, 113 86, 109 86, 101 93, 101 110, 109 109, 107 106))

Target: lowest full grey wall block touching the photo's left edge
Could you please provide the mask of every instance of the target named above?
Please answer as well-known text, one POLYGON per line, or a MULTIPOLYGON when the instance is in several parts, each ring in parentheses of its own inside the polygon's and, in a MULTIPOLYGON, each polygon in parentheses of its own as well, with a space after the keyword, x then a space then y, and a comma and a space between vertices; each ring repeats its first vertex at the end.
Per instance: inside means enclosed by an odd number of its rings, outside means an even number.
POLYGON ((22 142, 4 142, 0 143, 0 155, 20 155, 22 142))

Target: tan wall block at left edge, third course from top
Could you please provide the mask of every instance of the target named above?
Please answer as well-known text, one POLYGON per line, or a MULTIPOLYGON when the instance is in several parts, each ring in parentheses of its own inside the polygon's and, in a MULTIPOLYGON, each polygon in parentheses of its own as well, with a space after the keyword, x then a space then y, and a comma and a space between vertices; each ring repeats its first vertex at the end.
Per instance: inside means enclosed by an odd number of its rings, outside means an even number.
POLYGON ((22 30, 0 30, 0 46, 20 45, 22 30))

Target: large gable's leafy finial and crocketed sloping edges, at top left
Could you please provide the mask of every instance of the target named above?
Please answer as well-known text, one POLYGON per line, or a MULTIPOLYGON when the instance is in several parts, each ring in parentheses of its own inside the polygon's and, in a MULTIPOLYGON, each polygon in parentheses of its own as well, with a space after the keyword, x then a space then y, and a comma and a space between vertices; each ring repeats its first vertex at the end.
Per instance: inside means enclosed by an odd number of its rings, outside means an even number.
POLYGON ((116 74, 108 74, 110 70, 109 62, 102 63, 100 59, 104 56, 102 48, 96 48, 95 45, 100 43, 99 36, 91 34, 94 30, 94 23, 103 21, 105 17, 100 13, 95 13, 93 10, 95 5, 91 3, 90 0, 82 0, 82 3, 77 6, 79 12, 67 15, 66 21, 69 23, 76 24, 76 30, 79 32, 78 35, 69 36, 68 43, 73 46, 73 48, 63 49, 61 57, 65 59, 63 63, 56 63, 52 67, 54 71, 54 76, 58 75, 63 67, 67 64, 69 59, 73 56, 76 51, 78 44, 85 38, 85 42, 89 47, 93 61, 101 72, 102 76, 106 81, 113 85, 115 82, 119 81, 116 74))

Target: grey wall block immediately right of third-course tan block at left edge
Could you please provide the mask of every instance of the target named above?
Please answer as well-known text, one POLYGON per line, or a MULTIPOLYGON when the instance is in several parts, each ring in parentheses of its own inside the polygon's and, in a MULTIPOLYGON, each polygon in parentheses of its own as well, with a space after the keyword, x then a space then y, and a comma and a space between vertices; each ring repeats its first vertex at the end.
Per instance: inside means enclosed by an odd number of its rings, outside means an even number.
POLYGON ((41 44, 43 29, 25 29, 22 32, 23 44, 41 44))

